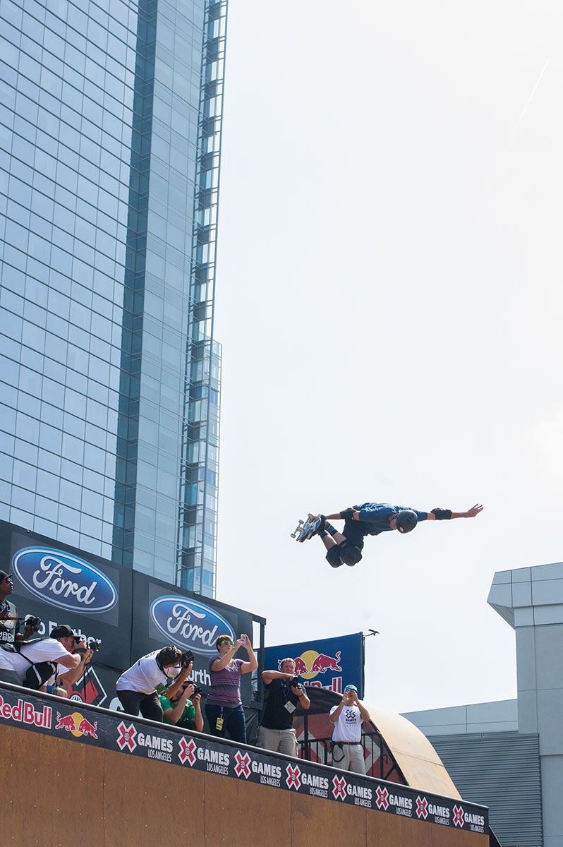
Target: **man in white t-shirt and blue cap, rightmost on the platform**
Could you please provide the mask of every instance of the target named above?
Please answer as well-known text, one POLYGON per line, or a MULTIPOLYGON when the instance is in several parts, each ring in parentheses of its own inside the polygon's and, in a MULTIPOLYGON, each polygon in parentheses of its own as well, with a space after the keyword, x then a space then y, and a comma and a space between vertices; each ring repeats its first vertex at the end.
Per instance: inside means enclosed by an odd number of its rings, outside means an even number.
POLYGON ((366 773, 362 745, 362 722, 369 721, 369 712, 358 700, 356 685, 346 685, 342 700, 330 710, 333 729, 333 765, 343 771, 366 773))

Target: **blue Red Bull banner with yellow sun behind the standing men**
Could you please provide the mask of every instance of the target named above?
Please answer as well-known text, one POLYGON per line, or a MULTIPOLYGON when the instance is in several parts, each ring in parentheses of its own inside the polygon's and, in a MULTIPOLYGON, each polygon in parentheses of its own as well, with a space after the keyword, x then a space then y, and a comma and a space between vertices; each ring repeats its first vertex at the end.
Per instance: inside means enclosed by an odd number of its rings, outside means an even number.
POLYGON ((295 673, 306 685, 342 694, 346 685, 356 685, 363 697, 362 633, 337 638, 281 644, 264 650, 264 669, 279 670, 284 659, 293 659, 295 673))

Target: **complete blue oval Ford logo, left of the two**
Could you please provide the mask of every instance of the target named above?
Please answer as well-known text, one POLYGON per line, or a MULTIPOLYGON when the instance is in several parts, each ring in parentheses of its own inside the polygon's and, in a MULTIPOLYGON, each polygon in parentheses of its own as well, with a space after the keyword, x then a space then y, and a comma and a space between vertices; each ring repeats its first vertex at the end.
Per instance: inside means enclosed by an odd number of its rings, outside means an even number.
POLYGON ((12 567, 31 594, 69 612, 108 612, 118 601, 115 586, 102 571, 60 550, 25 547, 14 556, 12 567))

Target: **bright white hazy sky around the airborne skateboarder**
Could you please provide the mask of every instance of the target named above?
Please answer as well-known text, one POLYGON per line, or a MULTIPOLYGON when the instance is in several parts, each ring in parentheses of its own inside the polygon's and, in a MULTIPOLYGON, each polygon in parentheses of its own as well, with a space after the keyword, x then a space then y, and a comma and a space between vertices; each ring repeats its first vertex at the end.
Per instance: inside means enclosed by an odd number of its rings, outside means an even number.
POLYGON ((563 558, 562 23, 230 3, 218 599, 268 644, 379 630, 366 699, 395 711, 514 697, 491 581, 563 558), (485 510, 354 568, 290 539, 362 501, 485 510))

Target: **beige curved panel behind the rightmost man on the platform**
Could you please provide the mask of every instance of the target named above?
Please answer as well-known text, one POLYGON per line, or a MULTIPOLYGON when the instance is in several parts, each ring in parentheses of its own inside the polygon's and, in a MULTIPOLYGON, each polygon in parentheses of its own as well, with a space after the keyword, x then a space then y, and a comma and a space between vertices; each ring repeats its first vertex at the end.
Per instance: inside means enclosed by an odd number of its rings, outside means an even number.
POLYGON ((383 735, 411 788, 461 800, 438 753, 414 723, 365 701, 363 705, 369 711, 373 726, 383 735))

